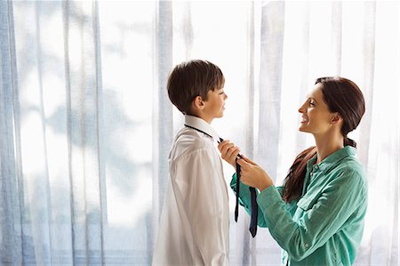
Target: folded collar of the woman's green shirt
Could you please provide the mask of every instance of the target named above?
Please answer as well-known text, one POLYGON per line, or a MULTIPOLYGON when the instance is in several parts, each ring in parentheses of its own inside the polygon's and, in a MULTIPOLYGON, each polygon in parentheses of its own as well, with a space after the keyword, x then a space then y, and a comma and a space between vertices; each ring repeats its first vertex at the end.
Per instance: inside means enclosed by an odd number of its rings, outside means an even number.
POLYGON ((324 160, 317 165, 315 165, 316 164, 316 155, 315 155, 314 157, 308 160, 307 171, 308 173, 310 173, 312 171, 311 170, 312 167, 319 169, 321 171, 329 170, 332 168, 332 166, 336 165, 344 157, 355 156, 355 155, 356 155, 356 149, 351 146, 346 146, 342 149, 336 150, 330 156, 325 157, 324 160))

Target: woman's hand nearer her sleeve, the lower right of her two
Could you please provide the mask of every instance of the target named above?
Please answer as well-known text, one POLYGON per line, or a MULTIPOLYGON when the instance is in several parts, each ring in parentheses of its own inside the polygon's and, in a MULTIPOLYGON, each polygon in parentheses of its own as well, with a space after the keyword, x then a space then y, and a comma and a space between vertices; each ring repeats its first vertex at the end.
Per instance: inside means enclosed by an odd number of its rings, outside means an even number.
POLYGON ((244 184, 260 189, 260 191, 274 184, 268 173, 260 165, 257 165, 247 157, 242 157, 237 159, 237 163, 241 166, 241 181, 244 184))

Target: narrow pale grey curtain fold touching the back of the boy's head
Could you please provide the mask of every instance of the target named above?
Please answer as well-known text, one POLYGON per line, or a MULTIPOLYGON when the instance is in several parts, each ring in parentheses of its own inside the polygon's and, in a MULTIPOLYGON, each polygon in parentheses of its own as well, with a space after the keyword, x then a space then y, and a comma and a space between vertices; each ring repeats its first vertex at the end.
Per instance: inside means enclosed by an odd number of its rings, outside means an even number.
MULTIPOLYGON (((148 226, 148 249, 156 242, 159 217, 164 206, 168 184, 168 153, 172 143, 172 106, 166 91, 166 81, 172 69, 172 2, 161 1, 156 5, 156 91, 153 102, 153 224, 148 226)), ((150 256, 151 259, 151 256, 150 256)), ((148 261, 149 263, 151 260, 148 261)))

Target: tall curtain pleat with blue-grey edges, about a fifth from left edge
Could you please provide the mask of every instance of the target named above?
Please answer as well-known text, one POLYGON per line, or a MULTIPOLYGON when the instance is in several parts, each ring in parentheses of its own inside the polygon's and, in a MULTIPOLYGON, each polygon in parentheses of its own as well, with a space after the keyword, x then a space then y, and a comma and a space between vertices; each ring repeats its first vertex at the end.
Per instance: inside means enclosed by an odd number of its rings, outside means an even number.
MULTIPOLYGON (((99 43, 95 4, 67 2, 68 158, 74 263, 103 263, 99 43)), ((100 94, 101 95, 101 94, 100 94)))

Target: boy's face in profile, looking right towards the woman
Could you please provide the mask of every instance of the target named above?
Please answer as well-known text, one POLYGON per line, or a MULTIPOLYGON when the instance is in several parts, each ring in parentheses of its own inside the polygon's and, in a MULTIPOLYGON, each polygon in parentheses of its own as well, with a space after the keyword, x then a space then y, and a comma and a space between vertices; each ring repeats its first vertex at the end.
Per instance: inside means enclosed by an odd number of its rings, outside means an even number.
POLYGON ((207 101, 204 102, 203 114, 204 120, 211 124, 212 119, 224 116, 225 100, 228 96, 224 88, 215 88, 214 91, 208 91, 207 101))

